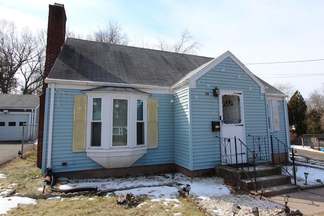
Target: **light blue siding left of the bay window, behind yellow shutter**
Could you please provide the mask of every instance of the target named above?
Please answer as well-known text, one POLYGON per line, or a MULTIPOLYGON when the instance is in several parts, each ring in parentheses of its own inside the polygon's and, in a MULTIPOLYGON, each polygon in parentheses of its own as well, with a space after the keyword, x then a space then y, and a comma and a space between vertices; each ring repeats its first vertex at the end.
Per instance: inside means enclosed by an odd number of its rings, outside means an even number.
MULTIPOLYGON (((47 92, 48 99, 45 111, 48 113, 46 119, 49 119, 50 89, 47 92)), ((82 94, 78 90, 55 89, 51 163, 54 172, 102 168, 101 165, 86 157, 86 152, 72 153, 74 95, 82 94), (67 165, 62 166, 62 162, 66 162, 67 165)), ((47 166, 49 123, 44 127, 45 129, 46 142, 44 138, 43 148, 46 146, 46 160, 43 164, 47 166)), ((45 167, 42 169, 45 170, 45 167)))

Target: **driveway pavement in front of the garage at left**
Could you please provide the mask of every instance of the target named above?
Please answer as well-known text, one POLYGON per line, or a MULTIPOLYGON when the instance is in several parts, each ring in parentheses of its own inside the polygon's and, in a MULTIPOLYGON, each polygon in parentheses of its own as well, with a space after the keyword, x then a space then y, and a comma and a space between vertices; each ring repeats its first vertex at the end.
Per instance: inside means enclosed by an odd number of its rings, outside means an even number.
MULTIPOLYGON (((33 143, 24 143, 23 153, 30 151, 32 148, 33 148, 33 143)), ((0 142, 0 165, 17 157, 18 151, 21 151, 21 141, 1 141, 0 142)))

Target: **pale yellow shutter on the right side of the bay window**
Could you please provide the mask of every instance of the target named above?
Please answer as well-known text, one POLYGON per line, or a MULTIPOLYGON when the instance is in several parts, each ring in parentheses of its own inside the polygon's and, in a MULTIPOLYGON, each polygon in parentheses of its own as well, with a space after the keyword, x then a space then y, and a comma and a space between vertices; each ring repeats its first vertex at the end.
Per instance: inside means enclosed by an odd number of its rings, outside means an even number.
POLYGON ((148 123, 147 136, 148 148, 157 148, 157 99, 149 98, 147 100, 148 123))

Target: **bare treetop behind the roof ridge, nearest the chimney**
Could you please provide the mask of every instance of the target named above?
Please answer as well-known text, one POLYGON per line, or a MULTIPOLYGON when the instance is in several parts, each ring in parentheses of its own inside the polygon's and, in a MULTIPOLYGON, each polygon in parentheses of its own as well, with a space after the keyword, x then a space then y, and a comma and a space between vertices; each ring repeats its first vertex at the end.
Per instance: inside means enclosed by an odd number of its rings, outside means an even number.
POLYGON ((106 22, 94 33, 94 40, 108 44, 128 45, 129 38, 117 22, 106 22))

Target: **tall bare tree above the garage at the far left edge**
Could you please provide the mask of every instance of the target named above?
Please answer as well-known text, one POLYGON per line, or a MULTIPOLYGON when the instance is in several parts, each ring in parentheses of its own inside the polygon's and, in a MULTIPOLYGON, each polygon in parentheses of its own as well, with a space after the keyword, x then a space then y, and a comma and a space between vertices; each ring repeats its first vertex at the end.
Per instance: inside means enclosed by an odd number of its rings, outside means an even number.
MULTIPOLYGON (((17 32, 13 22, 0 20, 0 91, 14 93, 19 85, 18 73, 39 56, 37 40, 28 28, 17 32)), ((42 51, 44 52, 44 51, 42 51)))

